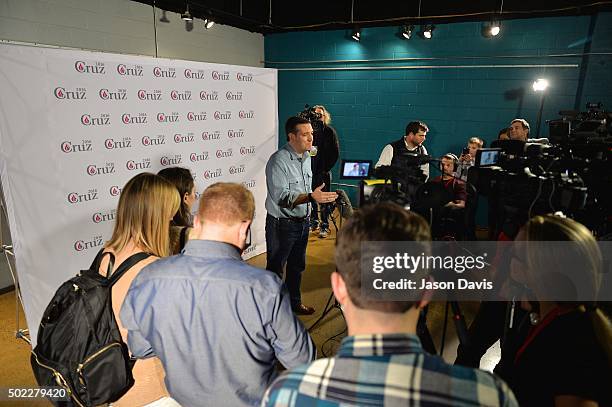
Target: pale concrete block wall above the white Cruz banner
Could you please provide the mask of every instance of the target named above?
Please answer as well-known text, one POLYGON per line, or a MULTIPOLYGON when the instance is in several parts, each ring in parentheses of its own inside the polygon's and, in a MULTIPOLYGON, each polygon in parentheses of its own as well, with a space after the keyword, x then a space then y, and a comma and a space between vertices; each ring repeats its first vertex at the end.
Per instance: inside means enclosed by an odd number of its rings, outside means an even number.
MULTIPOLYGON (((159 57, 263 66, 261 34, 155 14, 159 57)), ((153 21, 151 6, 129 0, 0 0, 0 40, 154 56, 153 21)))

